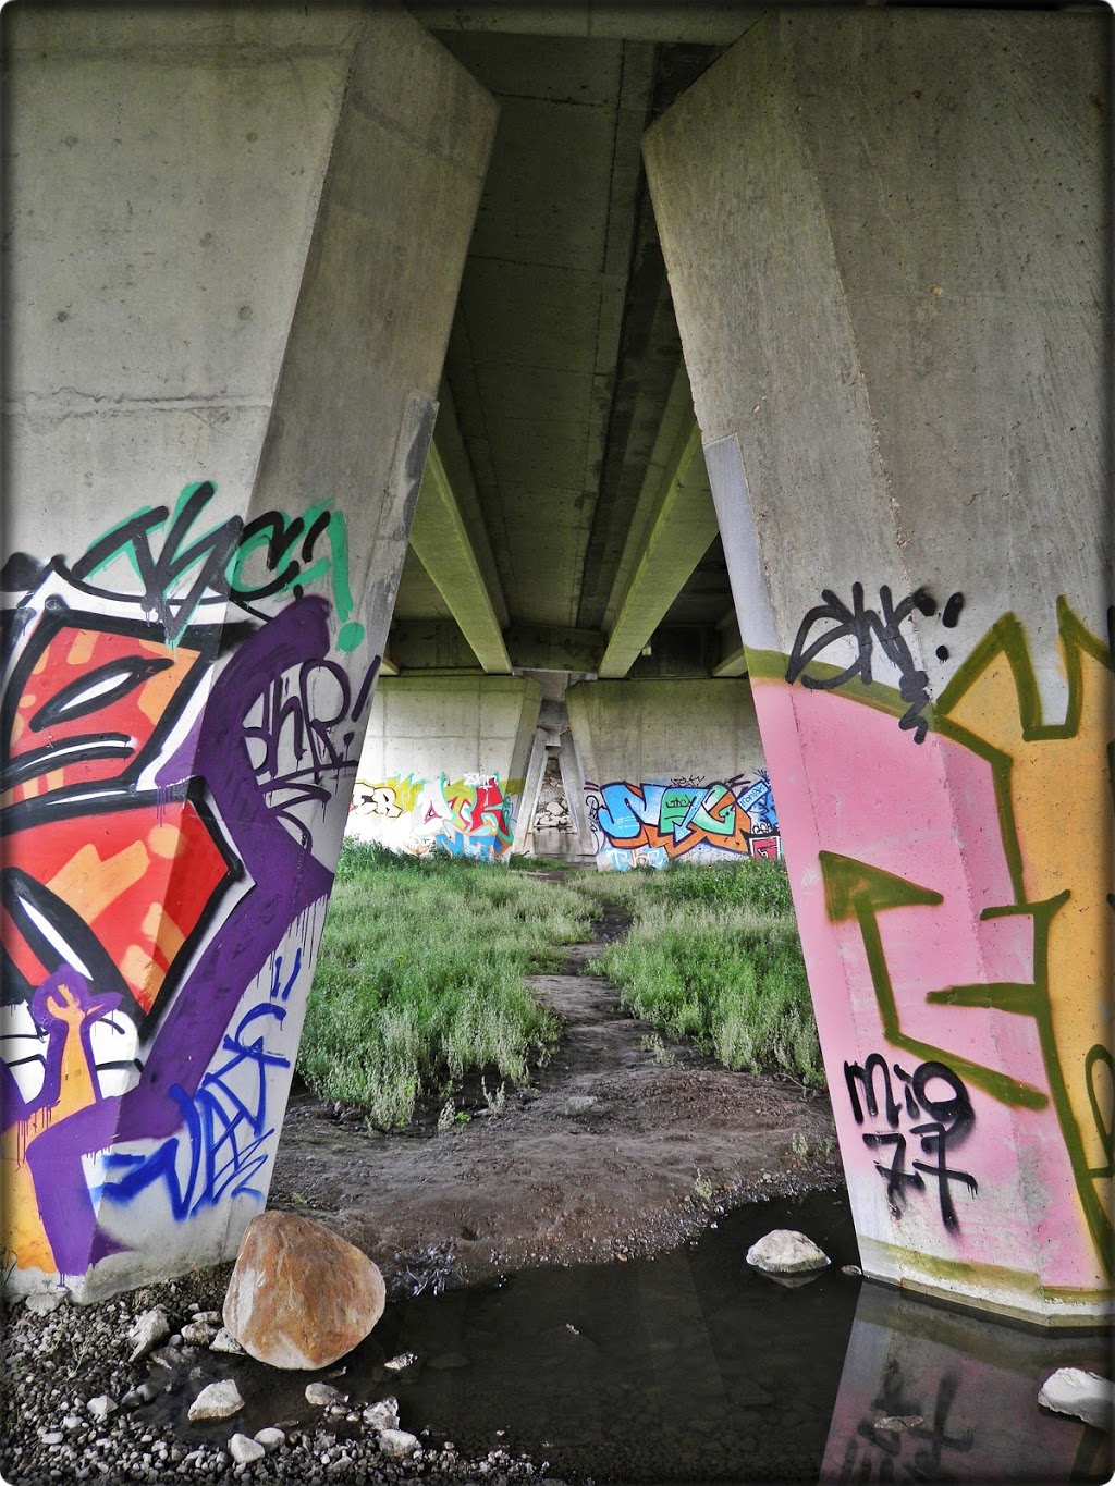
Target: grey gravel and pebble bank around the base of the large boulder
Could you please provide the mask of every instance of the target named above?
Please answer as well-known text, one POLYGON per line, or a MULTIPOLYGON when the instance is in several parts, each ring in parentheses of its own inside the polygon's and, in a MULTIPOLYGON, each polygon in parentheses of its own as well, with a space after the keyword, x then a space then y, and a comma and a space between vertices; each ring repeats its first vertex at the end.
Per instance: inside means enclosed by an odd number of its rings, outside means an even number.
MULTIPOLYGON (((51 1306, 42 1314, 34 1306, 13 1306, 4 1318, 3 1355, 4 1386, 0 1389, 0 1471, 3 1477, 22 1486, 48 1486, 61 1482, 92 1482, 94 1486, 248 1486, 266 1482, 272 1486, 324 1486, 326 1482, 361 1482, 367 1486, 404 1486, 428 1480, 430 1486, 453 1486, 464 1482, 492 1483, 497 1467, 489 1461, 468 1461, 447 1446, 422 1447, 418 1434, 398 1427, 398 1406, 394 1398, 364 1406, 345 1404, 330 1398, 324 1416, 327 1430, 317 1428, 321 1412, 300 1404, 303 1421, 277 1419, 275 1425, 256 1433, 251 1441, 266 1452, 251 1462, 236 1458, 232 1440, 223 1438, 222 1449, 193 1446, 175 1433, 165 1415, 155 1418, 146 1406, 156 1403, 168 1391, 186 1388, 184 1398, 172 1409, 184 1407, 193 1388, 186 1382, 187 1369, 205 1360, 211 1367, 214 1352, 183 1355, 164 1346, 155 1354, 129 1363, 135 1343, 128 1340, 141 1315, 162 1309, 181 1320, 183 1331, 192 1324, 208 1323, 220 1312, 214 1309, 223 1297, 220 1271, 190 1275, 175 1285, 147 1285, 140 1291, 113 1297, 109 1302, 71 1306, 65 1291, 51 1291, 51 1306), (55 1370, 43 1369, 43 1361, 55 1361, 55 1370), (158 1361, 164 1366, 152 1366, 158 1361), (150 1376, 147 1370, 150 1369, 150 1376), (104 1400, 103 1418, 89 1404, 104 1400), (109 1407, 109 1404, 119 1404, 109 1407), (373 1422, 364 1419, 372 1410, 373 1422), (333 1416, 336 1415, 336 1418, 333 1416), (337 1433, 332 1433, 337 1428, 337 1433), (387 1430, 388 1449, 382 1449, 387 1430), (391 1453, 391 1447, 400 1450, 391 1453), (329 1450, 329 1461, 323 1453, 329 1450), (482 1470, 482 1465, 486 1465, 482 1470)), ((216 1340, 216 1337, 214 1337, 216 1340)), ((413 1354, 400 1357, 401 1366, 387 1370, 387 1376, 401 1378, 418 1364, 413 1354)), ((220 1364, 217 1364, 220 1366, 220 1364)), ((211 1375, 210 1375, 211 1376, 211 1375)), ((256 1378, 256 1373, 245 1373, 256 1378)), ((239 1389, 238 1389, 239 1395, 239 1389)), ((201 1397, 201 1395, 199 1395, 201 1397)), ((372 1395, 375 1398, 375 1394, 372 1395)), ((248 1407, 266 1404, 266 1383, 244 1382, 248 1407), (254 1389, 259 1389, 259 1394, 254 1389)), ((259 1418, 259 1413, 256 1415, 259 1418)), ((265 1416, 266 1418, 266 1416, 265 1416)), ((410 1421, 407 1421, 410 1422, 410 1421)), ((415 1421, 419 1422, 419 1421, 415 1421)), ((220 1430, 220 1424, 216 1427, 220 1430)), ((227 1425, 224 1427, 227 1428, 227 1425)), ((247 1438, 247 1434, 244 1435, 247 1438)), ((244 1446, 238 1446, 239 1450, 244 1446)), ((508 1486, 541 1486, 544 1470, 537 1470, 525 1458, 504 1456, 498 1465, 508 1486)), ((553 1482, 552 1486, 562 1486, 553 1482)))

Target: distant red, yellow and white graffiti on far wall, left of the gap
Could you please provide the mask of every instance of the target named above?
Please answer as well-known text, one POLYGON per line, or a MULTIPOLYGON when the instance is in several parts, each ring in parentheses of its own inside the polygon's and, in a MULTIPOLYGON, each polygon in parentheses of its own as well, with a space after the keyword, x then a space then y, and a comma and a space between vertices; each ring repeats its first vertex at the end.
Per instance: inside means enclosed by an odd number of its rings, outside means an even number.
POLYGON ((520 780, 502 785, 498 774, 422 779, 418 774, 357 780, 349 834, 382 841, 395 851, 498 862, 510 854, 514 802, 520 780))

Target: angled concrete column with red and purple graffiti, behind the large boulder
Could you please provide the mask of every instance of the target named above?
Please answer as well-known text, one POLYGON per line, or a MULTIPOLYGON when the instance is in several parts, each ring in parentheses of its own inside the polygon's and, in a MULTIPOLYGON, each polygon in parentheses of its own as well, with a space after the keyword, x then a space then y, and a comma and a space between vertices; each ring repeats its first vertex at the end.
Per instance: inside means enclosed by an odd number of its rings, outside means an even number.
POLYGON ((4 15, 4 1247, 265 1201, 494 106, 401 12, 4 15))

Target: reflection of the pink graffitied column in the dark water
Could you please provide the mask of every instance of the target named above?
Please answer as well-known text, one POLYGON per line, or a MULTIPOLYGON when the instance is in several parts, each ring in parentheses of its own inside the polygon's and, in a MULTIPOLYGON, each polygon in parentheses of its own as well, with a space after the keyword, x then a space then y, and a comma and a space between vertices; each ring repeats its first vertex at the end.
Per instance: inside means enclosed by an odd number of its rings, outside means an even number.
POLYGON ((1048 1336, 864 1284, 822 1482, 1106 1482, 1111 1435, 1038 1406, 1057 1367, 1111 1376, 1111 1337, 1048 1336))

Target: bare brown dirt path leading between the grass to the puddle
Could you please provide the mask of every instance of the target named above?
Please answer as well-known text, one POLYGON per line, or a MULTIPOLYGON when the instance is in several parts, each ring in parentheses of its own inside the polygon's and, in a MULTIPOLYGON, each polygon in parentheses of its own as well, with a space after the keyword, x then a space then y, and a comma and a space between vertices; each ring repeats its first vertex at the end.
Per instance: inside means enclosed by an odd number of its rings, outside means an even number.
POLYGON ((565 1031, 500 1113, 477 1089, 468 1123, 376 1135, 294 1094, 269 1205, 329 1223, 388 1279, 433 1263, 474 1281, 657 1253, 718 1208, 840 1180, 827 1098, 663 1045, 584 973, 599 948, 531 978, 565 1031))

